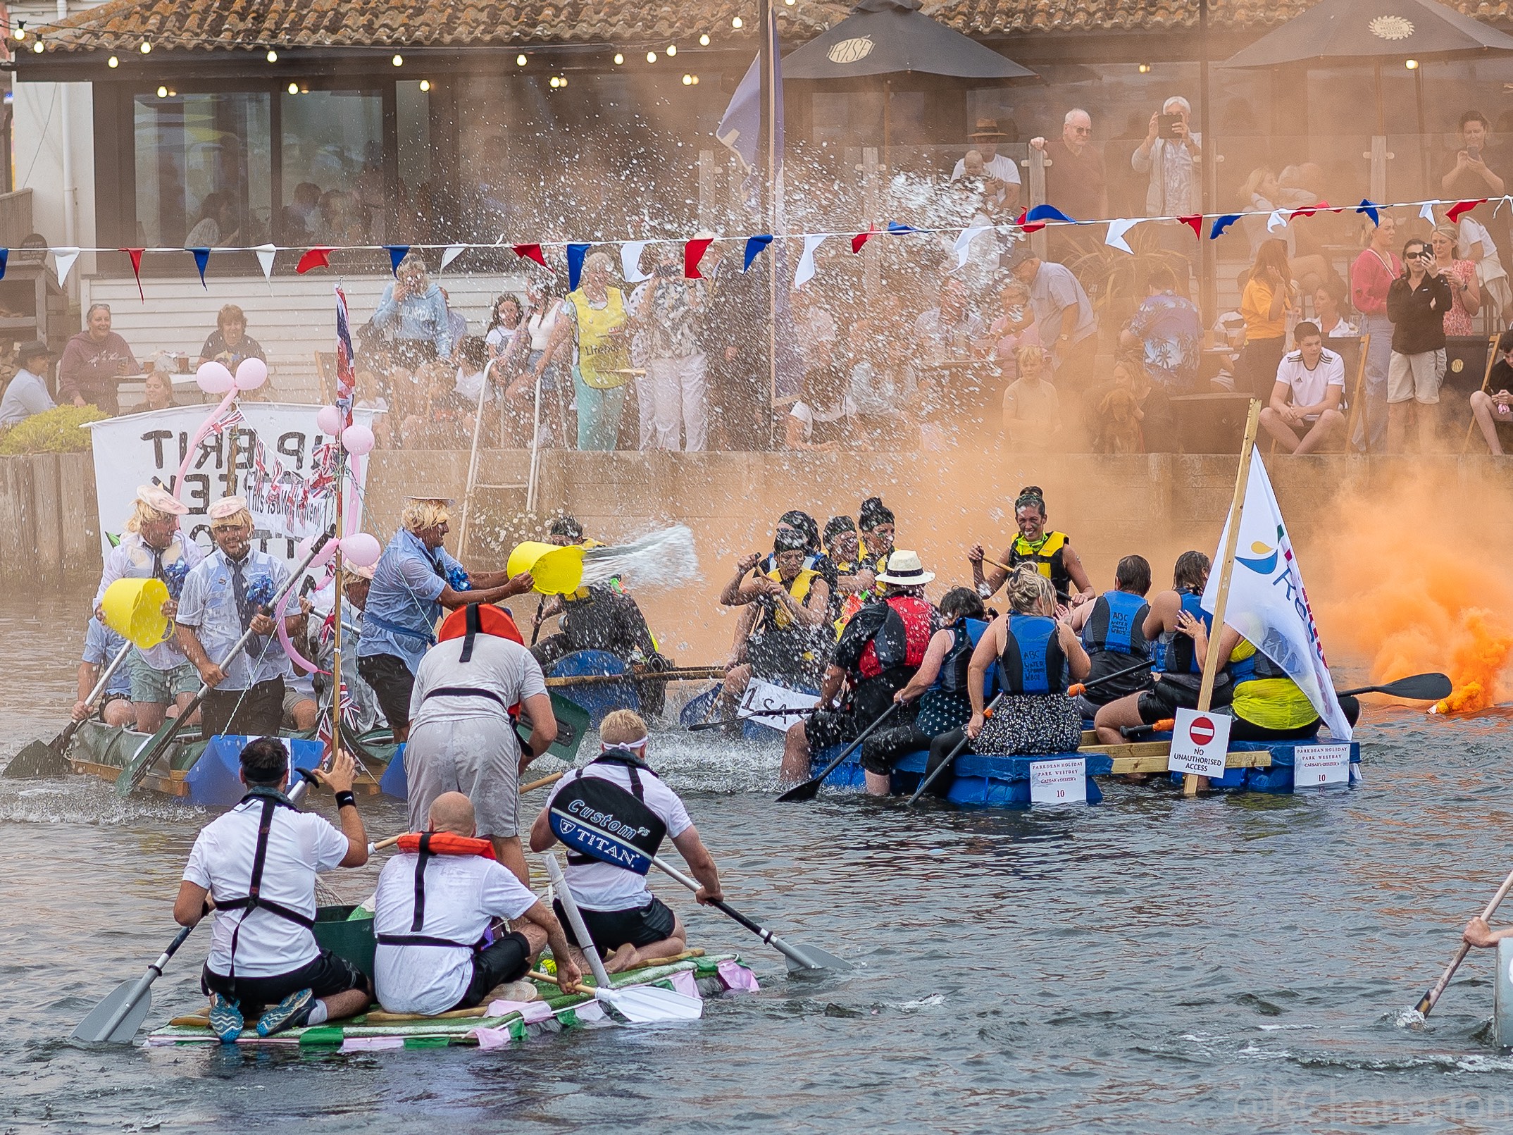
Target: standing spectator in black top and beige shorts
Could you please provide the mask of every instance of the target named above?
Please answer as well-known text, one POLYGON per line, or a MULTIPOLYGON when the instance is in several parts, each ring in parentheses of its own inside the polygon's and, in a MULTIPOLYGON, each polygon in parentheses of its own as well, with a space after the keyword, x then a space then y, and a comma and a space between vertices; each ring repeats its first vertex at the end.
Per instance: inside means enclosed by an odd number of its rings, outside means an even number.
POLYGON ((1434 268, 1434 253, 1416 236, 1403 245, 1404 271, 1387 289, 1392 362, 1387 368, 1387 449, 1406 452, 1409 422, 1416 421, 1419 452, 1434 448, 1434 409, 1445 378, 1445 312, 1449 285, 1434 268))

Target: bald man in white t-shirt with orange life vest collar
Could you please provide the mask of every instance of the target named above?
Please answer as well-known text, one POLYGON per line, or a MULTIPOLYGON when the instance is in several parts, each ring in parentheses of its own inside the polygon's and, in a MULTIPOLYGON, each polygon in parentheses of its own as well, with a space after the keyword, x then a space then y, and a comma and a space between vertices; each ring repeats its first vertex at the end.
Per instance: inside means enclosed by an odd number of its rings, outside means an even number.
POLYGON ((557 985, 583 976, 561 923, 477 838, 472 802, 460 791, 431 805, 424 835, 399 837, 374 896, 374 984, 389 1012, 427 1017, 483 1005, 504 982, 523 978, 551 944, 557 985), (486 932, 493 919, 520 920, 517 931, 486 932))

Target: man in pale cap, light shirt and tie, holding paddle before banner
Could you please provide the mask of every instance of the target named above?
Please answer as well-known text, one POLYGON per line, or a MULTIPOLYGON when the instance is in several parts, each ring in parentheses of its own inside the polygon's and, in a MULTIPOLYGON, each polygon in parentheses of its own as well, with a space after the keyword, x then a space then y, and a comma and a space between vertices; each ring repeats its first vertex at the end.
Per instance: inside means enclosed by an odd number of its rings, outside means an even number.
MULTIPOLYGON (((283 560, 253 548, 253 516, 242 496, 210 505, 215 551, 195 564, 179 599, 179 643, 210 687, 201 702, 206 737, 277 734, 283 723, 289 657, 274 637, 272 596, 289 580, 283 560), (235 658, 227 652, 253 631, 235 658), (224 666, 222 666, 224 663, 224 666)), ((304 634, 304 614, 289 616, 290 636, 304 634)))

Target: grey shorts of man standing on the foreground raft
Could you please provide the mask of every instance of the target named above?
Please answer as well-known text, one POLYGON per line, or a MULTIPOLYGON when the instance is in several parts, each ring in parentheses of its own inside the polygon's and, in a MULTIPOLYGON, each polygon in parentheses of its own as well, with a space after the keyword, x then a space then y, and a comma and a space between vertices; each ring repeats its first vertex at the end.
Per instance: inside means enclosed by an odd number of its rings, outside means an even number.
POLYGON ((520 746, 508 720, 419 719, 404 746, 410 787, 410 831, 425 831, 436 798, 460 791, 474 802, 478 835, 520 834, 520 746))

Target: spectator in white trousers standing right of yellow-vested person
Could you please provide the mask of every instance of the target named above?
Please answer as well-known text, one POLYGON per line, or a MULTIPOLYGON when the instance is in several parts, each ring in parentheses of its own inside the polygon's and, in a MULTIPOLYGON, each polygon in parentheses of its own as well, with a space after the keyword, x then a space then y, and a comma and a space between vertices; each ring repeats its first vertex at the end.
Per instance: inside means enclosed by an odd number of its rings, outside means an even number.
MULTIPOLYGON (((701 233, 696 239, 711 236, 701 233)), ((648 336, 646 378, 654 406, 649 448, 702 452, 710 425, 708 366, 699 334, 704 280, 684 277, 676 242, 661 241, 655 248, 652 278, 637 286, 629 306, 631 318, 648 336)))

